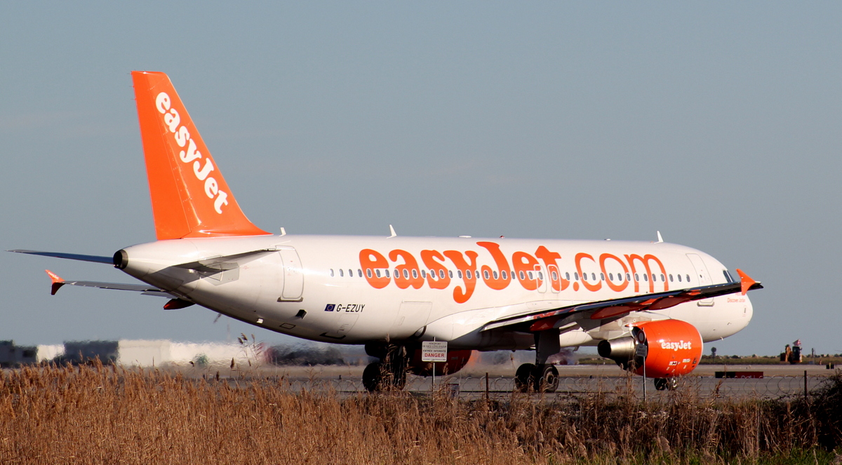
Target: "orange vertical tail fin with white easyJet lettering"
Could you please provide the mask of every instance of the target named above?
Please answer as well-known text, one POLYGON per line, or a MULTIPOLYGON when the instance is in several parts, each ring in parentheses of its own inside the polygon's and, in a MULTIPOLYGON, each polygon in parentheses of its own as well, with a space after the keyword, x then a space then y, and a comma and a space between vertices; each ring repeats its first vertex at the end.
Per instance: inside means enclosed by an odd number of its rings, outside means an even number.
POLYGON ((169 77, 131 78, 158 240, 269 234, 240 210, 169 77))

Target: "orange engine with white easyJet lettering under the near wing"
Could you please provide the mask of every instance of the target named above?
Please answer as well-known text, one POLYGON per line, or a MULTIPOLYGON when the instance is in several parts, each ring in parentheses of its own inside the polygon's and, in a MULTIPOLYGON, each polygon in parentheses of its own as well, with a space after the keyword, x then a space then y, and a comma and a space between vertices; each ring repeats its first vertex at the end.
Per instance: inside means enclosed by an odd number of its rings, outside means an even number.
POLYGON ((632 336, 604 340, 600 355, 616 361, 626 370, 646 377, 666 378, 686 375, 701 360, 699 330, 681 320, 636 323, 632 336))

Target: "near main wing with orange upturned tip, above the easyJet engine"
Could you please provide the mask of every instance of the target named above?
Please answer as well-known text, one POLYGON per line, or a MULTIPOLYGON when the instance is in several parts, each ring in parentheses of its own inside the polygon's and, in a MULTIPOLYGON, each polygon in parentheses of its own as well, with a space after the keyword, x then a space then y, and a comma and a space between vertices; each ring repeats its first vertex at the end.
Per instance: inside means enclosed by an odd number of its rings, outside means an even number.
POLYGON ((591 319, 612 318, 624 313, 642 312, 646 310, 663 310, 674 307, 679 303, 693 302, 711 297, 724 296, 741 292, 745 295, 748 291, 763 289, 763 286, 737 270, 740 282, 727 282, 711 286, 696 286, 675 291, 653 292, 639 296, 622 297, 599 302, 588 302, 568 307, 558 307, 540 312, 515 315, 513 317, 499 318, 486 323, 482 331, 489 329, 506 328, 514 331, 534 333, 552 329, 555 324, 573 313, 590 313, 591 319))

